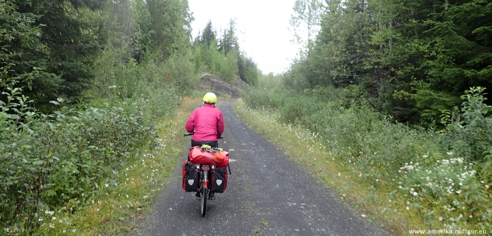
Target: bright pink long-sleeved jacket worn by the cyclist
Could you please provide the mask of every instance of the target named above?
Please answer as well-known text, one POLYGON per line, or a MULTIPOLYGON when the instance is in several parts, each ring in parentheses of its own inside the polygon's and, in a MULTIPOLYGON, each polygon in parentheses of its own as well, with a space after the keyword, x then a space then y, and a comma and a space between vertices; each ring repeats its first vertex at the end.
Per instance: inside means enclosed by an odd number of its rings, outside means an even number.
POLYGON ((185 128, 195 133, 194 141, 217 141, 224 132, 224 117, 215 105, 205 104, 191 113, 185 128))

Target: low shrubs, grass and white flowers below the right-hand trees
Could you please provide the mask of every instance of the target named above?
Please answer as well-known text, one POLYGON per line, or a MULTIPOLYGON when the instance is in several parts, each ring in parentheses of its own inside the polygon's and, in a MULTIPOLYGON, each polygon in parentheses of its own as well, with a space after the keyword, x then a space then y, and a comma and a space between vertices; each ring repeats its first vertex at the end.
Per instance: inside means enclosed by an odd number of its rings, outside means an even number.
POLYGON ((243 101, 320 136, 333 161, 369 191, 406 202, 402 210, 420 212, 430 229, 492 230, 492 122, 483 89, 466 91, 463 107, 438 132, 393 122, 371 107, 343 101, 340 92, 255 89, 245 91, 243 101), (485 154, 467 151, 475 149, 485 154))

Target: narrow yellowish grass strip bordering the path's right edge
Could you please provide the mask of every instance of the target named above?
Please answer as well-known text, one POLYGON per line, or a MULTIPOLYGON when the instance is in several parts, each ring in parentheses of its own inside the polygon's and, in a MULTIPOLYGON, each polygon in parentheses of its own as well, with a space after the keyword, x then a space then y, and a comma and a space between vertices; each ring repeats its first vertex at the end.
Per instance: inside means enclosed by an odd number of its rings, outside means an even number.
POLYGON ((414 208, 407 210, 405 200, 390 196, 394 191, 390 186, 381 184, 376 191, 371 183, 336 162, 340 157, 325 148, 317 134, 279 122, 279 115, 273 110, 249 109, 241 99, 233 104, 233 108, 240 118, 281 147, 287 156, 307 166, 326 188, 336 190, 341 200, 363 211, 363 214, 357 214, 359 218, 377 221, 380 227, 397 235, 407 235, 408 230, 428 229, 420 212, 414 208))

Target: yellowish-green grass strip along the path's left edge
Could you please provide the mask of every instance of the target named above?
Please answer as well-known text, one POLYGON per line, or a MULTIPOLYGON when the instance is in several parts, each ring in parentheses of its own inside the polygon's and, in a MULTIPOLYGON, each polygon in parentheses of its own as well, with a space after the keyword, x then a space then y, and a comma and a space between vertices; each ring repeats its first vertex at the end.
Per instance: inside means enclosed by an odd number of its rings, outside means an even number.
MULTIPOLYGON (((138 220, 145 219, 155 196, 164 188, 183 157, 189 139, 183 137, 184 124, 199 99, 185 98, 174 117, 160 121, 156 142, 144 147, 119 170, 120 184, 106 186, 102 198, 88 196, 88 206, 70 213, 67 207, 50 214, 50 224, 38 235, 114 235, 138 231, 138 220), (91 204, 92 203, 92 204, 91 204)), ((75 205, 76 206, 76 205, 75 205)), ((74 206, 74 207, 75 207, 74 206)))

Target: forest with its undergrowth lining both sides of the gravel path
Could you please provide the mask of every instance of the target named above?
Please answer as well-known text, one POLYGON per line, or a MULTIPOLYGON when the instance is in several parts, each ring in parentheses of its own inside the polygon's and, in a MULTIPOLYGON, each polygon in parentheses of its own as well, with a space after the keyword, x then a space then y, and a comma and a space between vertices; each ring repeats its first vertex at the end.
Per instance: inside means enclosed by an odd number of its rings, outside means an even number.
POLYGON ((193 38, 187 0, 0 0, 2 228, 77 234, 60 214, 124 196, 128 165, 208 72, 246 82, 251 114, 319 135, 368 192, 430 228, 491 230, 492 2, 296 0, 293 12, 297 57, 264 74, 234 20, 193 38))

